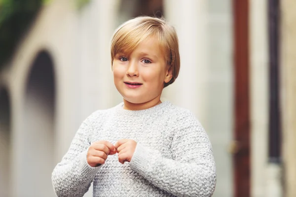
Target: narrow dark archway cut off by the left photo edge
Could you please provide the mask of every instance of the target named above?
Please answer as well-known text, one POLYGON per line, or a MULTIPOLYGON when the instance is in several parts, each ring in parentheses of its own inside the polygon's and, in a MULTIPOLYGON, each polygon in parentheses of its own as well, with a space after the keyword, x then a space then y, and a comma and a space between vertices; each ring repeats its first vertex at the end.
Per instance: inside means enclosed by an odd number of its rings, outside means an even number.
POLYGON ((10 99, 6 89, 0 89, 0 196, 9 196, 10 161, 10 99))

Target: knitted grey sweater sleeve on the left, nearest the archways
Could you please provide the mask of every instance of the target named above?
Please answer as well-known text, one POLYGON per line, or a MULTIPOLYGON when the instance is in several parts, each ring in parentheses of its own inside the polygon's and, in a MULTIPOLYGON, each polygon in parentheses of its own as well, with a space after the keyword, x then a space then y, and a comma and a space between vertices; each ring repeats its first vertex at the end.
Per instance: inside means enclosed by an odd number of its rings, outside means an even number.
POLYGON ((86 161, 91 132, 88 119, 76 132, 66 155, 52 172, 52 184, 58 197, 82 197, 89 189, 101 166, 91 167, 86 161))

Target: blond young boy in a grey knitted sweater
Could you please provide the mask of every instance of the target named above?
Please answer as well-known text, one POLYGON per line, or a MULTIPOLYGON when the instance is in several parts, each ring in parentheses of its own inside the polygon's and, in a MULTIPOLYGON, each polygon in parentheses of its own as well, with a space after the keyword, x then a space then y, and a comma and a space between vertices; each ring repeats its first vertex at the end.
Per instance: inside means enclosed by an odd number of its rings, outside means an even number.
POLYGON ((163 19, 138 17, 111 40, 114 84, 123 103, 83 121, 52 173, 59 197, 211 197, 212 146, 188 111, 161 102, 180 69, 178 38, 163 19))

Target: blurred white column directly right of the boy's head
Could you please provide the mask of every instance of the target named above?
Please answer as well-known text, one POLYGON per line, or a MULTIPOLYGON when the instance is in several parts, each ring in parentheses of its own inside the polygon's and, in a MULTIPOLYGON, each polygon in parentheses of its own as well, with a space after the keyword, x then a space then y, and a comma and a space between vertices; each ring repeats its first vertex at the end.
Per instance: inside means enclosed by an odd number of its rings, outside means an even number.
POLYGON ((207 80, 207 1, 165 0, 164 15, 177 31, 181 71, 176 82, 164 89, 163 97, 191 109, 205 122, 207 80))

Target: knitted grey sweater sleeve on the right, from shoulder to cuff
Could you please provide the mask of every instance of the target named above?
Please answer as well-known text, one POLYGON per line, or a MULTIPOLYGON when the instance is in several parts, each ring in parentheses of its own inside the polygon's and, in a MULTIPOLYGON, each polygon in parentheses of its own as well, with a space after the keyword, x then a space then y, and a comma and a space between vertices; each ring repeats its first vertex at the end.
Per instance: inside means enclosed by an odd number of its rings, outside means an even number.
POLYGON ((211 197, 216 186, 212 145, 195 118, 180 123, 171 146, 173 159, 163 158, 159 151, 138 143, 130 166, 175 196, 211 197))

